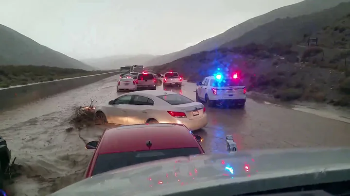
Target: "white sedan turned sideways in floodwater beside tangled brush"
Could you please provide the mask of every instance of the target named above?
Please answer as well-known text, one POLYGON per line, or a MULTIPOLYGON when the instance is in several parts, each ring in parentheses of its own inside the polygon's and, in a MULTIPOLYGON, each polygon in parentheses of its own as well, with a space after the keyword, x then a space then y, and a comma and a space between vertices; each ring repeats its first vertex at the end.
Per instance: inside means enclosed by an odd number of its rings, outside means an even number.
POLYGON ((118 125, 179 123, 198 130, 208 123, 202 103, 175 92, 146 90, 125 93, 108 104, 95 107, 102 123, 118 125))

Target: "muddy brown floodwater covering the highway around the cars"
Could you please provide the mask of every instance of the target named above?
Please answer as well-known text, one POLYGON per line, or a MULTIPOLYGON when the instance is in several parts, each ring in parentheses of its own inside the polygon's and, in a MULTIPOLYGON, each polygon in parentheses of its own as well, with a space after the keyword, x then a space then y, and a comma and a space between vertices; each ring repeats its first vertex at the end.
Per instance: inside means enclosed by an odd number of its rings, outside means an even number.
MULTIPOLYGON (((16 195, 41 196, 81 180, 93 151, 87 141, 98 139, 106 126, 66 131, 77 106, 108 102, 117 93, 119 76, 44 98, 0 113, 0 135, 21 165, 21 177, 9 189, 16 195), (15 191, 16 190, 16 191, 15 191)), ((166 88, 195 100, 194 83, 166 88)), ((163 89, 163 86, 157 86, 163 89)), ((350 123, 301 109, 247 99, 245 109, 207 108, 209 123, 195 131, 206 152, 225 151, 233 134, 238 149, 350 146, 350 123)), ((108 125, 113 126, 113 125, 108 125)))

